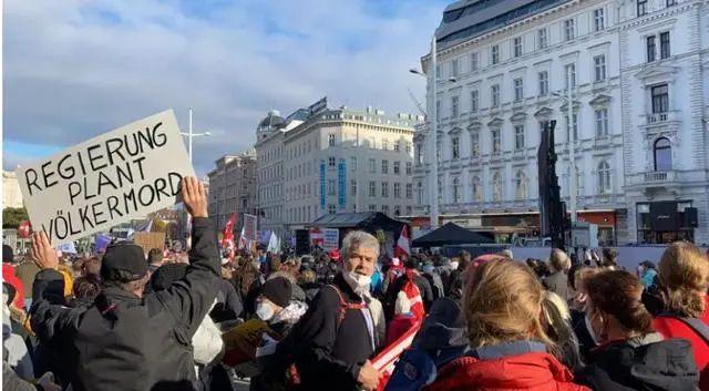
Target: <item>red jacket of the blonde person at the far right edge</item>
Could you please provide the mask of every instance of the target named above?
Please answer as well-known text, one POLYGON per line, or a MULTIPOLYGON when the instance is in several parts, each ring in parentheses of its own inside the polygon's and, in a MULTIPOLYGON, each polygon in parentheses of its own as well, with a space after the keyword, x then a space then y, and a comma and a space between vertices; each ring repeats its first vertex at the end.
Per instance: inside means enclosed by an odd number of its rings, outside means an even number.
MULTIPOLYGON (((705 298, 705 313, 699 318, 709 326, 709 297, 705 298)), ((672 317, 659 316, 653 320, 655 331, 665 338, 684 338, 691 343, 695 351, 695 362, 699 368, 699 388, 701 391, 709 391, 709 344, 695 330, 682 321, 672 317)))

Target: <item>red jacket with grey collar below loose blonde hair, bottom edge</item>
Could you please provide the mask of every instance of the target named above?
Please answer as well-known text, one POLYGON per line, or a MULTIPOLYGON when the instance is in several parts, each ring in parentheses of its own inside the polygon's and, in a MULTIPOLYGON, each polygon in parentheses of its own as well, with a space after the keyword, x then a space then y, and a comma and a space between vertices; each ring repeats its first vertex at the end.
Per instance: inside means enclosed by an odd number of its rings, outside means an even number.
POLYGON ((481 361, 462 357, 443 367, 424 391, 590 391, 552 354, 530 352, 481 361))

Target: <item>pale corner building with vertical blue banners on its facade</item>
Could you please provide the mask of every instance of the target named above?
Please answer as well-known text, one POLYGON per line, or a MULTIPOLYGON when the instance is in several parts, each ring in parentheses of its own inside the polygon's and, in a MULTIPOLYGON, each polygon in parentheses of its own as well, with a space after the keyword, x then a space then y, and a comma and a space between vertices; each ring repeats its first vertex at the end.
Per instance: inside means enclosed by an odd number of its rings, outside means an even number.
POLYGON ((259 196, 266 193, 259 198, 265 212, 261 229, 269 229, 269 209, 278 210, 278 220, 270 227, 288 231, 304 228, 323 214, 411 214, 413 126, 420 121, 421 116, 387 115, 373 107, 332 110, 321 100, 284 119, 276 133, 270 131, 261 138, 257 131, 259 169, 264 168, 259 172, 259 196), (296 125, 294 115, 299 122, 296 125), (269 156, 271 151, 275 156, 269 156), (269 169, 282 173, 282 177, 276 174, 274 179, 269 169), (276 192, 282 200, 269 197, 267 189, 271 187, 282 188, 282 193, 276 192))

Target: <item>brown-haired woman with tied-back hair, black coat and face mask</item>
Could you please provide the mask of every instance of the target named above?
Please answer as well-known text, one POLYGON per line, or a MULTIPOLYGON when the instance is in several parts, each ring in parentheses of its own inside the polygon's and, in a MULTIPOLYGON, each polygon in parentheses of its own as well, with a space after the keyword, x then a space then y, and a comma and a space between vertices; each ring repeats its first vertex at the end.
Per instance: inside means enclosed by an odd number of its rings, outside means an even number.
POLYGON ((585 322, 598 347, 578 381, 594 390, 697 390, 699 370, 684 339, 664 339, 640 297, 643 285, 623 270, 585 281, 585 322))

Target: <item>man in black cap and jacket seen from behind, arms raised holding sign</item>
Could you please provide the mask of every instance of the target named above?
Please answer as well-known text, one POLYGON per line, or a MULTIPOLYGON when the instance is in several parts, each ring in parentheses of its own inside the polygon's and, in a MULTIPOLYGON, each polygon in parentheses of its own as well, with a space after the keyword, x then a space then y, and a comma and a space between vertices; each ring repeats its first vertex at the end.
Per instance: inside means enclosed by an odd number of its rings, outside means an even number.
POLYGON ((187 177, 182 196, 193 217, 191 265, 160 292, 143 294, 150 275, 142 248, 119 244, 103 257, 106 287, 93 305, 63 307, 56 253, 44 233, 34 234, 32 257, 42 271, 34 280, 32 329, 72 369, 74 391, 194 389, 191 340, 214 301, 219 254, 204 187, 187 177))

